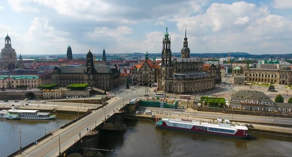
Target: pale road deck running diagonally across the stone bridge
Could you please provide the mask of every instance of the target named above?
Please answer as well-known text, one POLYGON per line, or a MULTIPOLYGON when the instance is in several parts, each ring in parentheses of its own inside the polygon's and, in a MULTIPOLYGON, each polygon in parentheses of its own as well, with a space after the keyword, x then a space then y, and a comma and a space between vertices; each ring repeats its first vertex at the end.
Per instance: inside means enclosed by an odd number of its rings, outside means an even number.
POLYGON ((120 108, 120 106, 123 105, 124 100, 125 103, 127 103, 130 98, 137 98, 138 94, 141 96, 141 93, 143 93, 144 90, 145 87, 140 87, 137 88, 137 90, 121 94, 121 98, 119 98, 119 95, 116 96, 117 99, 111 98, 106 109, 103 108, 93 111, 90 115, 80 119, 72 125, 57 130, 54 133, 54 136, 38 142, 38 145, 25 150, 22 152, 22 155, 18 155, 17 157, 57 157, 59 155, 59 136, 61 152, 63 152, 73 145, 74 139, 79 139, 79 133, 81 133, 81 136, 83 137, 88 133, 87 128, 95 128, 95 124, 96 126, 99 125, 102 123, 102 120, 105 119, 105 116, 112 115, 113 110, 120 108), (138 93, 136 91, 138 91, 138 93))

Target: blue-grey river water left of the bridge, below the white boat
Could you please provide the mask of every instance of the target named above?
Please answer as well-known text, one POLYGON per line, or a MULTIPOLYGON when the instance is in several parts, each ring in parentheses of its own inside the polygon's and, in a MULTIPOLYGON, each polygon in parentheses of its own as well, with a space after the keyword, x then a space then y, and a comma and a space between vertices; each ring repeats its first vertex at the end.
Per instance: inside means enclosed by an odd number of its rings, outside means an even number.
POLYGON ((5 119, 0 118, 0 157, 6 157, 19 150, 19 130, 22 147, 45 136, 46 131, 53 131, 72 121, 76 116, 58 114, 56 119, 5 119))

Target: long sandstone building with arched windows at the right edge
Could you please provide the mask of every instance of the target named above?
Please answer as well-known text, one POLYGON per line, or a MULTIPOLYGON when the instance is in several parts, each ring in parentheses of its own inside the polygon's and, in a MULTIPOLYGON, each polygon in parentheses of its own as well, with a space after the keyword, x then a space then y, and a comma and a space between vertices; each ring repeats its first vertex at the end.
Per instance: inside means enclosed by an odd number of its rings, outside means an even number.
POLYGON ((243 69, 243 76, 247 82, 261 82, 291 85, 292 70, 289 66, 282 66, 279 69, 243 69))

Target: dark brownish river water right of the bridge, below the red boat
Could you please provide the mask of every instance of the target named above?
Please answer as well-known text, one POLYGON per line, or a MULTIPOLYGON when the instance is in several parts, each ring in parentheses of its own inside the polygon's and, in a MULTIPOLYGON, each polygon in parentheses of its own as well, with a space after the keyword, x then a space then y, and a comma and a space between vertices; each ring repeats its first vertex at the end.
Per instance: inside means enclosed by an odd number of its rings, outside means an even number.
POLYGON ((101 131, 105 157, 292 157, 292 138, 256 135, 233 139, 156 128, 153 122, 125 119, 125 132, 101 131))

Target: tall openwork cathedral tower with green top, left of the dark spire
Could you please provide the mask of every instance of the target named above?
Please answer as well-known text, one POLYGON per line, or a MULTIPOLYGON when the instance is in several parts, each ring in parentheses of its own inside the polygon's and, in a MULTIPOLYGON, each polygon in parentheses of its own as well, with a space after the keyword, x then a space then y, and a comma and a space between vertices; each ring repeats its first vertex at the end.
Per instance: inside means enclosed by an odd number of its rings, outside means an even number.
POLYGON ((162 41, 162 64, 165 66, 171 66, 171 49, 170 49, 170 37, 168 38, 169 34, 167 32, 167 27, 166 27, 166 32, 164 34, 164 39, 162 41))

